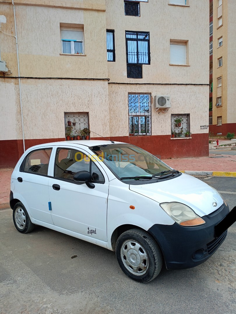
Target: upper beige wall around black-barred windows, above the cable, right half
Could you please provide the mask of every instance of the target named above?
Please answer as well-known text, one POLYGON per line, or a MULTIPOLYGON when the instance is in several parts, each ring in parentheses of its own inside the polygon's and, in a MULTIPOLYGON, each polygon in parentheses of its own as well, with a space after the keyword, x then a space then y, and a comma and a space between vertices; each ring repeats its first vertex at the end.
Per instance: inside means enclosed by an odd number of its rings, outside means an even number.
POLYGON ((115 30, 115 62, 108 62, 111 82, 209 84, 209 3, 190 1, 190 7, 168 5, 168 0, 140 2, 140 17, 125 16, 124 2, 106 0, 107 29, 115 30), (149 31, 151 64, 143 78, 126 75, 125 31, 149 31), (170 66, 170 39, 189 41, 188 66, 170 66))

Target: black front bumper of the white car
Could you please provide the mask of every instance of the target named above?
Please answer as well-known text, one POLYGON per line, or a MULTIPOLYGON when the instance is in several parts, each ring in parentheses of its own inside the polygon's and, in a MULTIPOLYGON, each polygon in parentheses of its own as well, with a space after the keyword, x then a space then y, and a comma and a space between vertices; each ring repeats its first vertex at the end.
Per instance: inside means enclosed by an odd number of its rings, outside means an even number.
POLYGON ((167 269, 198 266, 216 252, 227 236, 227 230, 218 238, 215 226, 229 213, 224 203, 215 212, 202 217, 205 224, 196 227, 153 225, 148 231, 159 244, 167 269))

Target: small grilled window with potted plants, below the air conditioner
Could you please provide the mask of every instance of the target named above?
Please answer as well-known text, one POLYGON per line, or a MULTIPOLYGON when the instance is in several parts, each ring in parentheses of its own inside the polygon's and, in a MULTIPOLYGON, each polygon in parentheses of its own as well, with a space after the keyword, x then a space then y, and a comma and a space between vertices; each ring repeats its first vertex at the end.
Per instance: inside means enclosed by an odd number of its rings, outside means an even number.
POLYGON ((189 137, 190 136, 190 114, 172 114, 171 115, 171 134, 175 137, 189 137), (177 123, 176 121, 181 120, 177 123), (187 134, 186 134, 187 133, 187 134))

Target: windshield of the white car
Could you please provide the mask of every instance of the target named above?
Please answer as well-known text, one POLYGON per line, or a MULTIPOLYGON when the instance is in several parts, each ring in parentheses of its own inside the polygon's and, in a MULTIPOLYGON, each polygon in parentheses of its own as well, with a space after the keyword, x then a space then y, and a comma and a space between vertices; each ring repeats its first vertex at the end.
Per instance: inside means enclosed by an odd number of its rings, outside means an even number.
POLYGON ((103 161, 121 180, 135 176, 151 177, 161 171, 172 170, 154 155, 131 144, 106 144, 90 149, 93 157, 103 161))

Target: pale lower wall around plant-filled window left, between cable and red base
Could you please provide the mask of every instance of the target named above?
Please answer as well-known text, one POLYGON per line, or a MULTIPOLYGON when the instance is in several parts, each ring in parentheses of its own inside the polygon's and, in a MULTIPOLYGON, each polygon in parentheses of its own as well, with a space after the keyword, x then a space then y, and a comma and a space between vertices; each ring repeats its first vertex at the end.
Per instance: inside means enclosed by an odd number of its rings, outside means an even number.
MULTIPOLYGON (((13 83, 0 83, 0 95, 3 95, 0 140, 22 138, 20 108, 17 107, 18 103, 20 106, 19 86, 13 83)), ((22 79, 21 92, 27 139, 65 137, 64 112, 89 112, 90 129, 103 136, 109 135, 105 82, 22 79)), ((91 133, 91 136, 95 135, 91 133)))

